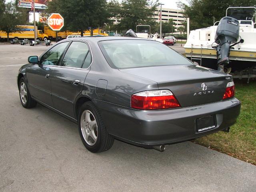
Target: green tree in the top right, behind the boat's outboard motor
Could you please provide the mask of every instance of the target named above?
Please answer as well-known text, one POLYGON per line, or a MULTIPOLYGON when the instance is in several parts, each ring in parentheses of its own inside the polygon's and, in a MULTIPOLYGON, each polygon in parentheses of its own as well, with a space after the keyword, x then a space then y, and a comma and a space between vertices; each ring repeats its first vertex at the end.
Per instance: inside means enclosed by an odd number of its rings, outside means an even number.
POLYGON ((219 21, 230 6, 255 6, 256 0, 188 0, 188 5, 179 2, 178 7, 190 18, 190 30, 213 25, 213 18, 219 21))

